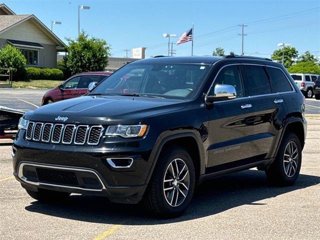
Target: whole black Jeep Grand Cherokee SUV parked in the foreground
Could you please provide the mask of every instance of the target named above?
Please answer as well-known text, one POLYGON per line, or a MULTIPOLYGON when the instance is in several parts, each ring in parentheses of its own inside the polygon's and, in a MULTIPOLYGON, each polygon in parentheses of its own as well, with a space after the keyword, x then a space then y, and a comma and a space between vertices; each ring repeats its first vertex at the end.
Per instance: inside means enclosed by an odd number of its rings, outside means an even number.
POLYGON ((13 174, 38 200, 97 194, 177 216, 210 177, 257 167, 274 184, 293 184, 304 104, 285 68, 267 58, 137 60, 85 96, 26 112, 13 174))

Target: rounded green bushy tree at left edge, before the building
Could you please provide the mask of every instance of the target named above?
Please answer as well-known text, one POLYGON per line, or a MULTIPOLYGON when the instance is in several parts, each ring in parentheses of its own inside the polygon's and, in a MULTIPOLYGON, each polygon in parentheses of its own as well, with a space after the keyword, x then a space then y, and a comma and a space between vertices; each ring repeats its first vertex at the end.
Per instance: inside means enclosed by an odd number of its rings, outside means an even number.
POLYGON ((0 67, 10 68, 14 79, 23 78, 26 59, 18 48, 6 44, 0 50, 0 67))

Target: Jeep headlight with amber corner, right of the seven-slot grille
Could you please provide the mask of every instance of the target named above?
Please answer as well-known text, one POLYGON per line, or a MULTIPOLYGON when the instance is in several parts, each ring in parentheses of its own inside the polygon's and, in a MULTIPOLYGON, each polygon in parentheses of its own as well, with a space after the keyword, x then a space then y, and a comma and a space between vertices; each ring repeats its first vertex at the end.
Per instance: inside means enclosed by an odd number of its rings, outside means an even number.
POLYGON ((135 137, 143 136, 147 129, 147 125, 117 125, 108 126, 105 135, 135 137))

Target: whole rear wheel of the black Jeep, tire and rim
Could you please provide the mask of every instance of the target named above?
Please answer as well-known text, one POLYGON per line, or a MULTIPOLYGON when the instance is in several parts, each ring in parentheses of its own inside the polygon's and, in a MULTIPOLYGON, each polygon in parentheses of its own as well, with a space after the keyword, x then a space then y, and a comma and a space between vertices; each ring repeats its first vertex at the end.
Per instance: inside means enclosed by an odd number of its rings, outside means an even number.
POLYGON ((298 137, 292 132, 285 133, 274 161, 265 171, 267 180, 272 185, 292 185, 300 172, 301 156, 298 137))

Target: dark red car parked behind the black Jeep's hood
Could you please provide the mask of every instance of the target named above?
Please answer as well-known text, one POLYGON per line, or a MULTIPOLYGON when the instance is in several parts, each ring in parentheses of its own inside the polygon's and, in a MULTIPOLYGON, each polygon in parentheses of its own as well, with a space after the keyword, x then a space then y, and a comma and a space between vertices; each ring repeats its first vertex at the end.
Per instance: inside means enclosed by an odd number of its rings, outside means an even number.
POLYGON ((90 82, 100 82, 111 73, 112 72, 109 71, 92 71, 75 74, 63 81, 60 85, 45 92, 41 105, 81 96, 87 92, 90 82))

